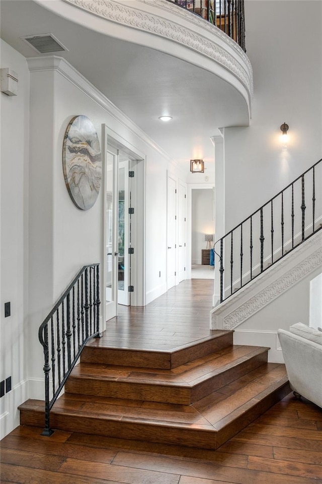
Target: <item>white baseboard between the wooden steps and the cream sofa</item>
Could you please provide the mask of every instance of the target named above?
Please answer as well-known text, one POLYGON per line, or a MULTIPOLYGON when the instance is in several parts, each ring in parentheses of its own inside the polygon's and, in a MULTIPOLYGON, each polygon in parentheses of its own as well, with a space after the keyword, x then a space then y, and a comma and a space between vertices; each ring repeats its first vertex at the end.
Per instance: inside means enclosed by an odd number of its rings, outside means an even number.
POLYGON ((270 363, 284 363, 282 349, 276 331, 253 331, 251 329, 235 329, 233 343, 250 346, 266 346, 270 363))

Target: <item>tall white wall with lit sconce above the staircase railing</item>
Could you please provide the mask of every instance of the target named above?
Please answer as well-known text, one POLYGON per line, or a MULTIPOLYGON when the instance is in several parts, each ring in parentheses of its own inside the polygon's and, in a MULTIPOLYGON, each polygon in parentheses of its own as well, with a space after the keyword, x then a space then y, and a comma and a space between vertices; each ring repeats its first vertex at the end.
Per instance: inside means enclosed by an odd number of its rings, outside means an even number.
POLYGON ((225 232, 322 156, 321 10, 310 0, 245 2, 253 115, 250 127, 224 129, 225 232))

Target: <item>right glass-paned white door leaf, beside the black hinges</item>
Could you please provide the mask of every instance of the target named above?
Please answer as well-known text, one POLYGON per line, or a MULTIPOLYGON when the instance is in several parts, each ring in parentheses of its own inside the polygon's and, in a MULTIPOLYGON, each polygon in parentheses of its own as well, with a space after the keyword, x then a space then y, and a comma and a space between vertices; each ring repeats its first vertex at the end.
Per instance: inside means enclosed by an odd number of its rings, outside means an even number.
POLYGON ((130 161, 119 161, 118 186, 118 304, 130 305, 131 256, 129 223, 129 170, 130 161))

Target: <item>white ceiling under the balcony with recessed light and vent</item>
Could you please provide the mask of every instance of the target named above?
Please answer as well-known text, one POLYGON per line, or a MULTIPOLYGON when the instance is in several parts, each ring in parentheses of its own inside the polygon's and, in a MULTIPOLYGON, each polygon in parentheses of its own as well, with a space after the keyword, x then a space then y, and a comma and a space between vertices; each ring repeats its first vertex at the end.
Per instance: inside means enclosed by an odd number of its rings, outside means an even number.
POLYGON ((213 164, 210 137, 225 126, 245 126, 245 101, 227 82, 188 62, 77 25, 31 0, 2 0, 1 37, 26 57, 37 52, 20 37, 54 34, 57 52, 172 158, 189 171, 190 158, 213 164), (169 123, 158 116, 169 114, 169 123))

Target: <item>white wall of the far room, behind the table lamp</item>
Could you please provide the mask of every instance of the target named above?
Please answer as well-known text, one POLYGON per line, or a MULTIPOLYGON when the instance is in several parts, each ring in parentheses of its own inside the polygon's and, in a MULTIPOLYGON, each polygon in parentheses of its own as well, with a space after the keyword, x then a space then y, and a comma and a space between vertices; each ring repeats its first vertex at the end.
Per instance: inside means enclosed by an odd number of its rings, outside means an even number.
POLYGON ((205 234, 214 233, 212 189, 192 190, 191 212, 191 263, 201 264, 201 250, 207 248, 205 234))

